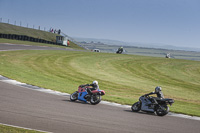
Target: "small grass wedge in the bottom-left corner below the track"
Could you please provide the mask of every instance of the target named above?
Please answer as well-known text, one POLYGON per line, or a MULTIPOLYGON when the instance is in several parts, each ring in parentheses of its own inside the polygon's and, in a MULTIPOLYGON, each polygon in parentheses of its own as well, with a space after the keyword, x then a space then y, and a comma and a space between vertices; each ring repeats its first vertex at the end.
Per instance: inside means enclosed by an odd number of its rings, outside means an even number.
POLYGON ((27 130, 0 124, 0 133, 41 133, 39 131, 27 130))

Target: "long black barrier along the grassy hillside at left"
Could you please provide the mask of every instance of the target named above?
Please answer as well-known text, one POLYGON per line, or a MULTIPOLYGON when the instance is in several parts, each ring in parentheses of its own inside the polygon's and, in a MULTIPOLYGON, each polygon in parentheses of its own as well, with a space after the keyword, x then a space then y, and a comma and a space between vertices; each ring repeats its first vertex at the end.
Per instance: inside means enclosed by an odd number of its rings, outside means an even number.
POLYGON ((60 44, 58 44, 56 42, 47 41, 47 40, 39 39, 39 38, 34 38, 34 37, 26 36, 26 35, 16 35, 16 34, 3 34, 3 33, 0 33, 0 38, 60 45, 60 44))

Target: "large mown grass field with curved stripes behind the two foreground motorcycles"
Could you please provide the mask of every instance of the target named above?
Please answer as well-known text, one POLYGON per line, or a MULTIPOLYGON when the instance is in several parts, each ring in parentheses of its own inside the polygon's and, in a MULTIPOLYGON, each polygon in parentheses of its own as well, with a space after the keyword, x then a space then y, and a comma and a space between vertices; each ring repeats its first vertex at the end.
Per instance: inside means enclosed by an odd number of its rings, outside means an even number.
POLYGON ((133 104, 163 88, 171 111, 200 116, 199 61, 77 51, 0 52, 0 74, 24 83, 72 93, 98 80, 103 100, 133 104))

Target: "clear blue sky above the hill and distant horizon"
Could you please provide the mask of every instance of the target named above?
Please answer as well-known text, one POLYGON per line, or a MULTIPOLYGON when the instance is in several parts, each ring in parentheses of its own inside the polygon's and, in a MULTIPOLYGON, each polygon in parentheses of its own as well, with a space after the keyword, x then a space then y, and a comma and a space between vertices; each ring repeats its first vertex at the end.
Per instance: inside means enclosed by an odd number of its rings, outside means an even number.
POLYGON ((0 0, 0 18, 71 37, 200 48, 200 0, 0 0))

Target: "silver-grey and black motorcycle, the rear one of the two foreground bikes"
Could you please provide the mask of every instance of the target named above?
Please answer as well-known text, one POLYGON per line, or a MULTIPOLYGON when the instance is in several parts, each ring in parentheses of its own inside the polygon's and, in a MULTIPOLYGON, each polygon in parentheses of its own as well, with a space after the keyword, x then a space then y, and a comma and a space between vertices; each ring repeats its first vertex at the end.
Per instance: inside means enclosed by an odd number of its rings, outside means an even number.
POLYGON ((168 114, 169 107, 167 105, 172 105, 174 103, 173 99, 163 98, 156 99, 155 97, 150 96, 141 96, 139 101, 134 103, 131 107, 133 112, 144 111, 155 113, 158 116, 164 116, 168 114), (154 102, 155 99, 155 102, 154 102))

